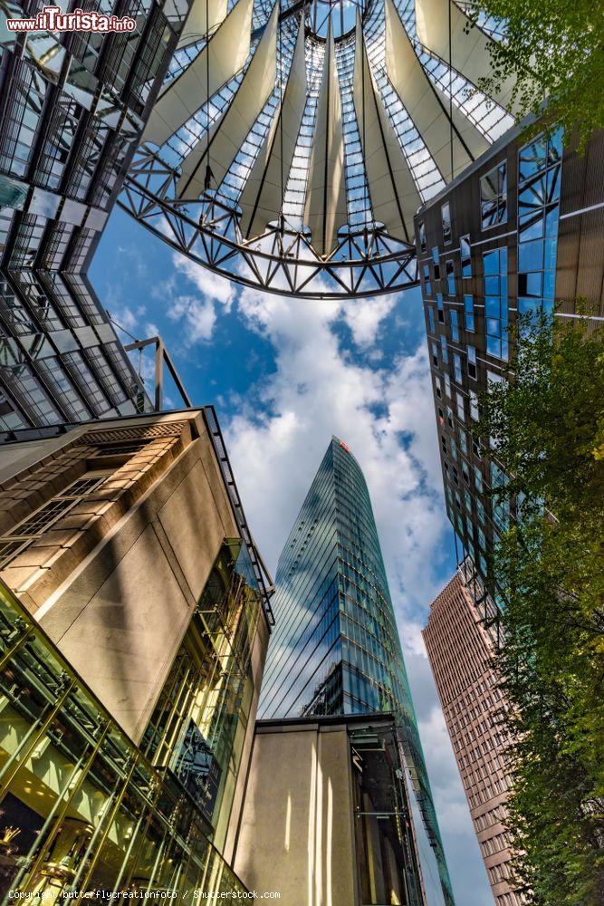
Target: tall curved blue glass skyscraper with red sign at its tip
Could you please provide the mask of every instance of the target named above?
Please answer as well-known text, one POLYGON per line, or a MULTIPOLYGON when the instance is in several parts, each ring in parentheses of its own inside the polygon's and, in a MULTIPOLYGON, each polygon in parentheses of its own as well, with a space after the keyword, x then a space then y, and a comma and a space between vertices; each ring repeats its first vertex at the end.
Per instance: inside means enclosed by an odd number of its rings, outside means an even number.
POLYGON ((260 718, 394 714, 425 825, 416 821, 420 862, 436 857, 453 902, 369 490, 337 438, 279 557, 275 586, 260 718))

